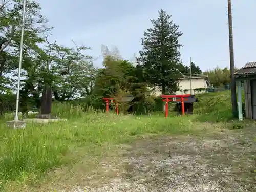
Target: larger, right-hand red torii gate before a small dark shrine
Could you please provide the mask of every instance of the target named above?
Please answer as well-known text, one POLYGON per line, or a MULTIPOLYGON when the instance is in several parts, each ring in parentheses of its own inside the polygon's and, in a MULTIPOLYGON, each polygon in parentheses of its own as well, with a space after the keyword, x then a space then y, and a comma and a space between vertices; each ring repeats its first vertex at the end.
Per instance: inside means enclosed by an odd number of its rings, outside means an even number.
POLYGON ((185 109, 184 109, 184 101, 188 101, 186 99, 187 97, 190 97, 190 94, 185 94, 185 95, 161 95, 160 97, 163 98, 163 101, 165 102, 165 117, 168 117, 168 102, 170 101, 181 101, 181 112, 182 115, 185 114, 185 109), (177 99, 178 98, 178 99, 177 99))

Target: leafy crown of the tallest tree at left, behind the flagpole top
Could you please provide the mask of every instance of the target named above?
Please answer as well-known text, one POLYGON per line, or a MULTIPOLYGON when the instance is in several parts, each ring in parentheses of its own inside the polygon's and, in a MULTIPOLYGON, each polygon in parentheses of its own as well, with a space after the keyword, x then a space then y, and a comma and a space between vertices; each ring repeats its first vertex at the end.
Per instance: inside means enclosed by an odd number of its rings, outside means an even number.
MULTIPOLYGON (((0 11, 0 91, 5 93, 14 86, 13 76, 17 74, 20 29, 22 24, 22 1, 2 1, 0 11), (7 75, 12 74, 12 75, 7 75)), ((47 20, 40 14, 40 6, 27 1, 26 26, 24 32, 23 68, 31 68, 33 55, 39 50, 37 44, 43 42, 38 35, 46 32, 47 20)))

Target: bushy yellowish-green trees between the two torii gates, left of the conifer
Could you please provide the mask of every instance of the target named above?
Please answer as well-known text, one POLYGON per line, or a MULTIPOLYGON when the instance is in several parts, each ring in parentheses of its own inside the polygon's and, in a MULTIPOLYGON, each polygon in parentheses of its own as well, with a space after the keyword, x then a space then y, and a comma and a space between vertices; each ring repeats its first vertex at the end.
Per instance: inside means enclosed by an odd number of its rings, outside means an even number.
MULTIPOLYGON (((92 106, 98 102, 103 103, 102 97, 109 97, 119 104, 120 112, 148 113, 152 110, 155 101, 146 84, 136 76, 140 72, 138 67, 110 55, 105 57, 103 64, 105 68, 96 76, 93 91, 96 97, 94 103, 91 102, 92 106)), ((105 105, 101 105, 101 109, 102 106, 105 108, 105 105)))

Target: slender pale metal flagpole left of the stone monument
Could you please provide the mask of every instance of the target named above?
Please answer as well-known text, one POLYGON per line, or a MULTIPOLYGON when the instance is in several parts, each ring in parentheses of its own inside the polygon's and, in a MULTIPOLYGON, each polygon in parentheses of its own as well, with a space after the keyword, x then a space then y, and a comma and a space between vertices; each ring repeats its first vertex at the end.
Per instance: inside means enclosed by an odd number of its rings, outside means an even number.
POLYGON ((19 104, 19 89, 20 89, 20 73, 22 72, 22 54, 23 54, 23 38, 26 18, 26 0, 23 1, 23 16, 22 16, 22 33, 20 37, 19 63, 18 63, 18 85, 16 98, 16 111, 14 121, 18 121, 18 104, 19 104))

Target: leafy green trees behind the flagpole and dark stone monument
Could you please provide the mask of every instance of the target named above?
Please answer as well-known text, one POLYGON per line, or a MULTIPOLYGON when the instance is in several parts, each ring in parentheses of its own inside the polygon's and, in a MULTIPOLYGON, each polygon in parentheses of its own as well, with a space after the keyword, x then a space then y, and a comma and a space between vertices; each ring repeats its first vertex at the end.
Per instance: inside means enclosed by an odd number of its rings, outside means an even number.
MULTIPOLYGON (((15 91, 13 77, 17 76, 22 5, 17 0, 3 1, 1 5, 0 93, 15 91)), ((55 100, 59 101, 91 95, 97 73, 91 57, 84 54, 89 49, 86 46, 74 43, 74 48, 68 48, 57 45, 56 41, 49 42, 52 27, 46 27, 47 19, 40 10, 38 3, 27 1, 20 90, 24 112, 35 106, 39 108, 46 84, 52 86, 55 100)))

